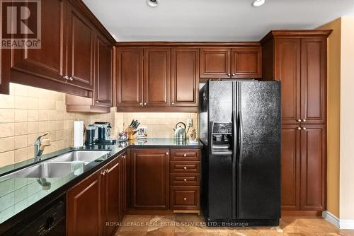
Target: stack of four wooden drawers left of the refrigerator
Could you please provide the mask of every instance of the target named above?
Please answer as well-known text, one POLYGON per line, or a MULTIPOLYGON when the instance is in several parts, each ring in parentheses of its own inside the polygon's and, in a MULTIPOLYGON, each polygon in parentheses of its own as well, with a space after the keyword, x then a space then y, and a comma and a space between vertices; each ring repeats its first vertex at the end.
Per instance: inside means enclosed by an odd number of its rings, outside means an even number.
POLYGON ((171 149, 170 208, 199 211, 200 150, 198 149, 171 149))

